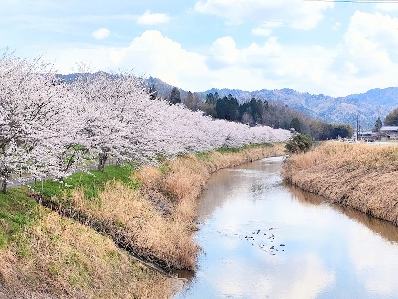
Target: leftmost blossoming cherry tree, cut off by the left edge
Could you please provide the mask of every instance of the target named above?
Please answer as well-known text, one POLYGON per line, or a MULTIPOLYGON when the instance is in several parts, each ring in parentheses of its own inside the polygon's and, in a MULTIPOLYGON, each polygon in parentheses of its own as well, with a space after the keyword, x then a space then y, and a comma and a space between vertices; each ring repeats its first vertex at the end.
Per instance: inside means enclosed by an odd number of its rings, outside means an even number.
MULTIPOLYGON (((0 181, 6 191, 13 174, 63 177, 70 143, 68 86, 46 70, 43 60, 0 58, 0 181), (60 162, 61 161, 61 162, 60 162)), ((78 159, 74 159, 77 161, 78 159)), ((69 166, 72 162, 69 162, 69 166)))

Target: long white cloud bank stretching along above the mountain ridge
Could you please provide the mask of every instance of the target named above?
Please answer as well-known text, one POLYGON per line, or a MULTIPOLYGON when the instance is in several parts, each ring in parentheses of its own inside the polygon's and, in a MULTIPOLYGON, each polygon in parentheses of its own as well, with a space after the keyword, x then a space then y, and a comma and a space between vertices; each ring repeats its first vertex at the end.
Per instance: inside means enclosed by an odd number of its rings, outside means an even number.
POLYGON ((397 85, 397 28, 398 18, 356 11, 341 42, 331 48, 289 45, 276 36, 240 47, 232 36, 224 36, 204 55, 147 30, 125 47, 64 49, 53 58, 64 73, 76 60, 88 60, 100 69, 135 69, 191 91, 288 87, 344 96, 397 85))

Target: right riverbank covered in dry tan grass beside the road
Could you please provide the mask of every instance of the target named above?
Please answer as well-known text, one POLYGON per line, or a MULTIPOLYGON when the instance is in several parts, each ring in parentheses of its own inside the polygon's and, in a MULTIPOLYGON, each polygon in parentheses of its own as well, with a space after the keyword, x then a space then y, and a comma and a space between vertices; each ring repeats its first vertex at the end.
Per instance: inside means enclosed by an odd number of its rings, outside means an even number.
POLYGON ((398 224, 397 147, 325 143, 287 158, 282 174, 331 202, 398 224))

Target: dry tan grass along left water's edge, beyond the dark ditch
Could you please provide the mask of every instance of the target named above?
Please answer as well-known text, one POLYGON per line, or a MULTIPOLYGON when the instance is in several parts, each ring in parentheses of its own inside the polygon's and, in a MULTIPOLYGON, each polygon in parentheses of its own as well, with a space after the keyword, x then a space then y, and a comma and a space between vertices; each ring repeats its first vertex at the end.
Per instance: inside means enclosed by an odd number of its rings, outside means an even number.
POLYGON ((199 254, 192 235, 196 229, 196 200, 210 173, 284 153, 284 145, 276 144, 213 152, 201 158, 178 157, 166 162, 165 173, 154 167, 133 173, 131 179, 142 184, 137 189, 112 181, 98 198, 85 198, 82 189, 75 189, 71 198, 64 198, 61 204, 69 202, 70 214, 141 258, 169 270, 195 270, 199 254))

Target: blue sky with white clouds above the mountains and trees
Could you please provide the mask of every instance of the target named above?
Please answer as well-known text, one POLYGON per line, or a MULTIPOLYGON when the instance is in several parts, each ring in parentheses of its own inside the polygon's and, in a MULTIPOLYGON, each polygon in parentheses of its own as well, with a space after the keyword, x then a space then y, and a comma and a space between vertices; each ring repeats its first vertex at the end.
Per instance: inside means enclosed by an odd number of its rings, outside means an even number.
POLYGON ((0 0, 7 47, 62 74, 84 62, 192 92, 346 96, 398 87, 398 1, 0 0))

